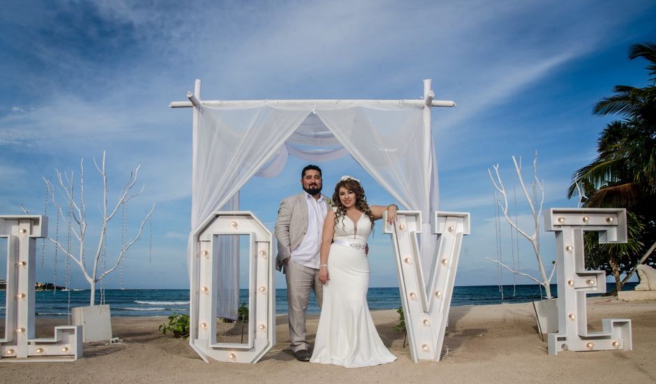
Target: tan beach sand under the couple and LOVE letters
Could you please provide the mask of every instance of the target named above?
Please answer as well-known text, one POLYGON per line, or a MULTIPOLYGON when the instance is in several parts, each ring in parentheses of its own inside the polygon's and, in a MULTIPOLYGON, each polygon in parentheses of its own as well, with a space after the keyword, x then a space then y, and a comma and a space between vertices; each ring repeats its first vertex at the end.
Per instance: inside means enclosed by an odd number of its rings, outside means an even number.
MULTIPOLYGON (((410 359, 403 334, 394 332, 395 311, 375 311, 374 321, 398 360, 378 367, 345 369, 298 362, 288 349, 285 316, 278 317, 274 348, 257 364, 204 362, 188 341, 158 332, 163 317, 114 317, 114 336, 124 345, 86 344, 84 357, 69 363, 0 364, 2 383, 656 383, 656 302, 588 300, 590 330, 602 318, 630 318, 633 350, 565 351, 549 356, 530 303, 453 307, 448 353, 440 362, 410 359)), ((37 336, 52 333, 52 319, 39 319, 37 336)), ((313 339, 318 318, 308 320, 313 339)))

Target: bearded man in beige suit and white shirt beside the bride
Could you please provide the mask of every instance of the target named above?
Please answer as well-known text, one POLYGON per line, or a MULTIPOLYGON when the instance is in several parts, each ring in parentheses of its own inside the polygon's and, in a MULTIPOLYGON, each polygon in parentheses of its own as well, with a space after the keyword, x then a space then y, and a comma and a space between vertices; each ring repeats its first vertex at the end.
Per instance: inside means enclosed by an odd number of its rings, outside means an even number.
POLYGON ((290 319, 290 346, 297 360, 309 361, 305 316, 310 291, 314 290, 321 307, 323 286, 319 281, 321 232, 329 209, 328 198, 321 194, 321 169, 308 165, 301 172, 303 191, 285 198, 278 209, 276 269, 287 277, 287 302, 290 319))

